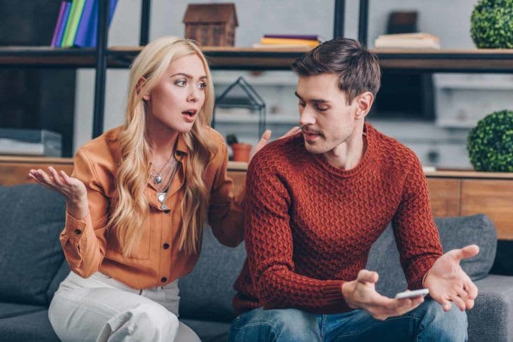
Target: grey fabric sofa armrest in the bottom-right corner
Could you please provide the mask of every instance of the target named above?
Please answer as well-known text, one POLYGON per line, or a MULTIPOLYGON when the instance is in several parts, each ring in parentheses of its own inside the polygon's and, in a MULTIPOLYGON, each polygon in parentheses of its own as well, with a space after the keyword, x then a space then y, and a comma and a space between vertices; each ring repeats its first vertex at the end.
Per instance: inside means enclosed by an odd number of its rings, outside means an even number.
POLYGON ((511 341, 513 277, 489 274, 475 285, 479 295, 468 311, 468 341, 511 341))

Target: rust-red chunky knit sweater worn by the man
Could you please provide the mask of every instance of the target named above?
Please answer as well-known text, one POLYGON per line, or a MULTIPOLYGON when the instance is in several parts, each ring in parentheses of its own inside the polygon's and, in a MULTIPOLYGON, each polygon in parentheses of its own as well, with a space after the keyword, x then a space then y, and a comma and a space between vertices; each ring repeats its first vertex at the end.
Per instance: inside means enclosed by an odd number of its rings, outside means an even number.
POLYGON ((248 257, 235 283, 237 312, 348 311, 341 286, 364 269, 392 221, 408 288, 442 254, 422 166, 398 141, 364 128, 367 150, 350 170, 304 148, 301 134, 269 143, 246 178, 248 257))

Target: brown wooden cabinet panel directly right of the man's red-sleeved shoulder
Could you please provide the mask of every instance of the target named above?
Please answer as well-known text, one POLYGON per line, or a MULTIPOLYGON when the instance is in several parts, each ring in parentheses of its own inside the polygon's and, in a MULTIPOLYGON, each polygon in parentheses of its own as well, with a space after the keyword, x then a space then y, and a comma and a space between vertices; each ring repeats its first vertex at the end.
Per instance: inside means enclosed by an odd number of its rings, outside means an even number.
POLYGON ((429 200, 434 217, 459 216, 461 180, 428 178, 429 200))

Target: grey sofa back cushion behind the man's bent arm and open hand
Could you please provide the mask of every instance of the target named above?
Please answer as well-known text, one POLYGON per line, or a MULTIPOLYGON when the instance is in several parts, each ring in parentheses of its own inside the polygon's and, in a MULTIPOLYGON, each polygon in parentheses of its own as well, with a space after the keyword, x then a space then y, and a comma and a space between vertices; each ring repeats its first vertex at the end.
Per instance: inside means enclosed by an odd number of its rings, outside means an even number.
MULTIPOLYGON (((465 259, 461 267, 476 281, 486 277, 496 254, 497 235, 495 227, 486 215, 466 217, 440 217, 435 219, 443 251, 477 244, 479 254, 465 259)), ((376 290, 387 296, 406 290, 407 283, 399 263, 399 252, 394 240, 392 226, 388 226, 380 238, 374 242, 366 268, 376 270, 380 279, 376 290)))

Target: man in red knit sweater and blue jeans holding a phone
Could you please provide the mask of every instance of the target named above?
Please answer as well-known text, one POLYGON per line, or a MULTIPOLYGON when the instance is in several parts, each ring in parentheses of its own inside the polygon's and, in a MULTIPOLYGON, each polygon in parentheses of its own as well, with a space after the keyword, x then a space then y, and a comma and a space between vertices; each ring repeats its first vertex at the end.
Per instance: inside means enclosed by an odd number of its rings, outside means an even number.
POLYGON ((364 122, 376 55, 335 38, 292 70, 302 134, 269 143, 248 168, 230 341, 466 340, 477 288, 459 261, 479 249, 442 255, 419 160, 364 122), (364 270, 390 221, 408 288, 428 288, 425 301, 380 295, 364 270))

